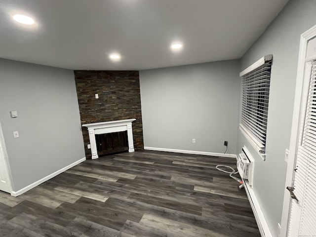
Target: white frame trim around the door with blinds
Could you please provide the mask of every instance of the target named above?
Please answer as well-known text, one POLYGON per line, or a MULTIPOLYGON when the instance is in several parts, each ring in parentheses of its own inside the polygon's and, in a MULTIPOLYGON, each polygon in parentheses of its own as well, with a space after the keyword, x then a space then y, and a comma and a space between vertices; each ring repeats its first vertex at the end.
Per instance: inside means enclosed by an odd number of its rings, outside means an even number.
MULTIPOLYGON (((306 53, 307 53, 307 44, 309 40, 312 40, 316 37, 316 25, 311 29, 307 30, 301 35, 300 40, 300 49, 298 57, 298 66, 297 66, 297 77, 296 77, 296 89, 295 89, 295 99, 294 99, 294 109, 293 109, 293 118, 292 118, 292 128, 291 128, 291 138, 290 138, 290 147, 288 153, 288 163, 286 170, 286 180, 285 187, 292 186, 294 181, 294 169, 296 165, 296 153, 298 148, 299 141, 299 128, 301 125, 301 112, 304 105, 303 94, 304 94, 304 83, 305 77, 305 66, 306 66, 306 53)), ((285 190, 284 187, 284 190, 285 190)), ((282 209, 282 219, 281 219, 281 231, 280 237, 287 237, 288 231, 288 222, 290 216, 291 208, 291 197, 289 192, 285 190, 283 197, 283 209, 282 209)))

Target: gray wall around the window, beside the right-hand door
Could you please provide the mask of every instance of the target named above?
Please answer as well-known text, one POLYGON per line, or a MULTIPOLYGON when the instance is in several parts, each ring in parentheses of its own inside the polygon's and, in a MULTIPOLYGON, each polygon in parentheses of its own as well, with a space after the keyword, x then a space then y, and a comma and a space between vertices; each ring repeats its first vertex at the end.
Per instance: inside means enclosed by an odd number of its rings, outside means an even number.
MULTIPOLYGON (((256 159, 254 192, 272 230, 277 236, 281 222, 289 148, 300 35, 316 24, 315 0, 291 0, 265 33, 242 57, 240 71, 260 57, 273 54, 269 118, 267 128, 267 159, 256 159)), ((237 151, 242 145, 252 150, 238 132, 237 151)))

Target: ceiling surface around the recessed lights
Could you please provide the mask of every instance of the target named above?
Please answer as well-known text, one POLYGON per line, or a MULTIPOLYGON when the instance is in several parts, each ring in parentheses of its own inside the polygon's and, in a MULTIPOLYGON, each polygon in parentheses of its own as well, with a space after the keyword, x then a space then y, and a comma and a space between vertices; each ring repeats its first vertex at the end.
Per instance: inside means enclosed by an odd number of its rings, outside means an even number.
POLYGON ((240 58, 288 0, 0 0, 0 57, 142 70, 240 58), (13 14, 32 16, 24 26, 13 14), (183 50, 172 52, 172 41, 183 50), (113 62, 109 53, 122 58, 113 62))

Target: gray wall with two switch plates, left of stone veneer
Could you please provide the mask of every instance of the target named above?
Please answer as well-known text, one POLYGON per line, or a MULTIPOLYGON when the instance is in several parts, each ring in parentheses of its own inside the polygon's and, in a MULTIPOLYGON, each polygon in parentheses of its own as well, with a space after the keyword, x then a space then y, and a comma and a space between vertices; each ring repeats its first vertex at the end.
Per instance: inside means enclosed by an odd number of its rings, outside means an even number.
POLYGON ((71 70, 0 59, 0 121, 13 191, 85 156, 71 70))

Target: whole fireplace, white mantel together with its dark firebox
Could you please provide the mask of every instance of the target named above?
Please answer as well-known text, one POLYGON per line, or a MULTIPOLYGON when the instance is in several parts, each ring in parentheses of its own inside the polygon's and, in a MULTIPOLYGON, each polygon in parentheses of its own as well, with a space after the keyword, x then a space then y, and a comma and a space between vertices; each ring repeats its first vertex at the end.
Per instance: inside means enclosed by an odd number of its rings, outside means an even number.
POLYGON ((134 152, 132 122, 135 120, 132 118, 83 124, 83 127, 88 128, 92 159, 113 152, 134 152))

